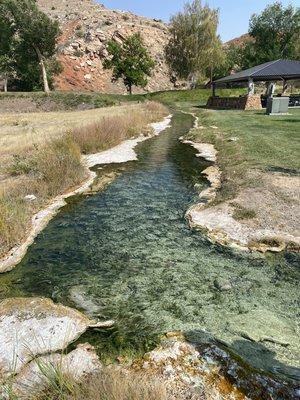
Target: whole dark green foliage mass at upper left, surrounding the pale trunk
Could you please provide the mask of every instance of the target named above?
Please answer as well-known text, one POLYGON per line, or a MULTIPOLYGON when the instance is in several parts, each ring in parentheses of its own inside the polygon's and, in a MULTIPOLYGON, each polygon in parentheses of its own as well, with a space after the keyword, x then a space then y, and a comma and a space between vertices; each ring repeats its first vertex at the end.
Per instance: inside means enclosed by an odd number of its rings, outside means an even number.
MULTIPOLYGON (((58 22, 51 21, 41 12, 35 0, 3 0, 0 27, 0 38, 9 32, 14 43, 14 68, 20 87, 32 90, 43 84, 47 91, 47 75, 51 85, 52 74, 61 70, 58 63, 53 62, 59 34, 58 22), (3 27, 6 27, 5 30, 3 27), (48 68, 47 63, 50 64, 48 68)), ((4 52, 9 56, 8 49, 4 52)))

